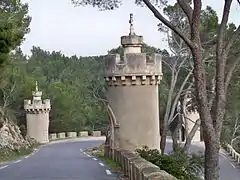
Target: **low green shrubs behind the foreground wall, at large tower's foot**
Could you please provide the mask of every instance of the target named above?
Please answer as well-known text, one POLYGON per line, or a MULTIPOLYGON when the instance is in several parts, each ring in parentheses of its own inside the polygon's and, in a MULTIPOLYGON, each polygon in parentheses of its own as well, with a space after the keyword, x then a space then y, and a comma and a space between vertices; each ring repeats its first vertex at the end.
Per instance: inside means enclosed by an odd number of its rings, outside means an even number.
POLYGON ((183 150, 161 155, 157 149, 137 149, 139 155, 179 180, 197 180, 203 171, 203 155, 187 155, 183 150))

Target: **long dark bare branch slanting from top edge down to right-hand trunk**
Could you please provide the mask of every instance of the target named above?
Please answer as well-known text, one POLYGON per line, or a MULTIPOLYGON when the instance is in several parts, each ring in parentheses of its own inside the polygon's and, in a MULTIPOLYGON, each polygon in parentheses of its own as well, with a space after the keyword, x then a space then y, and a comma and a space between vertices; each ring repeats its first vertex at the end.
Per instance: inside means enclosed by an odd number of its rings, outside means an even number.
POLYGON ((163 24, 165 24, 168 28, 170 28, 171 30, 173 30, 177 35, 179 35, 184 42, 189 46, 192 47, 192 42, 191 40, 187 37, 187 35, 183 34, 183 32, 176 26, 174 26, 171 22, 169 22, 153 5, 149 0, 143 0, 143 2, 145 3, 145 5, 152 11, 152 13, 154 14, 154 16, 160 20, 161 22, 163 22, 163 24))

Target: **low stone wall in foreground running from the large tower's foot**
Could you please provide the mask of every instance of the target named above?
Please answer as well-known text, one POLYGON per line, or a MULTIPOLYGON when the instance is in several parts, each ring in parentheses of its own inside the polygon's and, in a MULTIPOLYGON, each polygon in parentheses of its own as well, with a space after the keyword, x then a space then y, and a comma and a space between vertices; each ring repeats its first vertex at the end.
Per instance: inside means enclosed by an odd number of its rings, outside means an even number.
POLYGON ((121 164, 129 180, 177 180, 131 151, 115 149, 110 156, 121 164))

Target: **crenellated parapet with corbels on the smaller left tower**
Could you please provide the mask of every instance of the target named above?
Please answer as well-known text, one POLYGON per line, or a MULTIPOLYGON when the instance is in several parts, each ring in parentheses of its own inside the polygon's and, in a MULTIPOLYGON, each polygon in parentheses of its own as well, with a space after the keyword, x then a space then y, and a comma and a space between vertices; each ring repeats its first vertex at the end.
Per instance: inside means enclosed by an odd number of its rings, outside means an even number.
POLYGON ((24 100, 24 109, 27 112, 50 111, 50 99, 45 100, 24 100))

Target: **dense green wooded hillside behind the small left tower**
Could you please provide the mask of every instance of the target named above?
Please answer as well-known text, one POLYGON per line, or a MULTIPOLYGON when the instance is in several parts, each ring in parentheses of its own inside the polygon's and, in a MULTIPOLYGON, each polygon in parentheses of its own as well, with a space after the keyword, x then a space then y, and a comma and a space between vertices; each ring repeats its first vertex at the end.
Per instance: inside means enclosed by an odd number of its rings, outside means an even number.
MULTIPOLYGON (((118 53, 119 49, 110 51, 118 53)), ((143 51, 160 52, 148 45, 143 46, 143 51)), ((20 49, 10 57, 2 75, 0 105, 17 121, 23 135, 26 134, 23 100, 32 99, 36 80, 43 91, 42 98, 51 100, 50 132, 107 131, 103 56, 66 57, 61 52, 33 47, 28 58, 20 49)))

